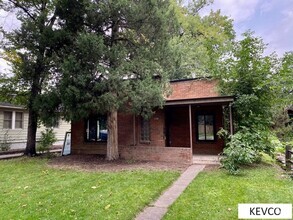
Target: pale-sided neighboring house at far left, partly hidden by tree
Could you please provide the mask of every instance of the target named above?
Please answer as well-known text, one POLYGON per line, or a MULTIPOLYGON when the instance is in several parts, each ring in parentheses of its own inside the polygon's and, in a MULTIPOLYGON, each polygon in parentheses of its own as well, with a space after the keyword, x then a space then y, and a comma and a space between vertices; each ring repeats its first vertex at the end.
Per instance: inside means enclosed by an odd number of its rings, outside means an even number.
MULTIPOLYGON (((0 143, 7 141, 11 149, 24 149, 27 139, 28 111, 17 105, 0 102, 0 143)), ((37 140, 41 137, 41 131, 46 129, 41 125, 37 129, 37 140)), ((54 145, 63 145, 65 133, 70 131, 71 124, 59 120, 53 127, 57 142, 54 145)))

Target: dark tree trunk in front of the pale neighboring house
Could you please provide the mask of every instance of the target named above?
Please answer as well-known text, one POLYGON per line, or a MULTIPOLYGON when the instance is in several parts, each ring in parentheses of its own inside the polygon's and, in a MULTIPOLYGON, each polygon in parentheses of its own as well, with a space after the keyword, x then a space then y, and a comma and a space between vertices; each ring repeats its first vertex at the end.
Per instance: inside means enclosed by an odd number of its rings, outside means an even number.
POLYGON ((38 126, 38 115, 32 108, 29 109, 27 142, 24 154, 27 156, 36 155, 36 134, 38 126))

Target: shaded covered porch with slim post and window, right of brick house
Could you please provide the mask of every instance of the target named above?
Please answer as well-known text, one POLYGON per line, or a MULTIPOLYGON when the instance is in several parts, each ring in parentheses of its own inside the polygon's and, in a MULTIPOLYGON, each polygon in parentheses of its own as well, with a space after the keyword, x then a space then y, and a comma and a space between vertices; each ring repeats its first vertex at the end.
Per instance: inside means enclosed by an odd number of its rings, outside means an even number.
POLYGON ((217 157, 224 148, 217 132, 225 128, 233 134, 232 101, 231 96, 167 101, 166 147, 191 148, 192 155, 217 157))

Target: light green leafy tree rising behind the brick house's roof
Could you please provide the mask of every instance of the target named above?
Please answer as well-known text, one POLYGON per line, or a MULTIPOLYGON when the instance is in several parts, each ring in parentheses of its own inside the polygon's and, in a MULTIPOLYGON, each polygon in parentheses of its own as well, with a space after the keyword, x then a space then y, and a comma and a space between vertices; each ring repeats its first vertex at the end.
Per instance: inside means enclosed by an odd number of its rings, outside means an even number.
POLYGON ((193 1, 187 7, 175 4, 181 33, 171 45, 176 53, 172 78, 219 75, 219 63, 232 49, 235 32, 232 20, 211 11, 206 16, 200 10, 210 1, 193 1))

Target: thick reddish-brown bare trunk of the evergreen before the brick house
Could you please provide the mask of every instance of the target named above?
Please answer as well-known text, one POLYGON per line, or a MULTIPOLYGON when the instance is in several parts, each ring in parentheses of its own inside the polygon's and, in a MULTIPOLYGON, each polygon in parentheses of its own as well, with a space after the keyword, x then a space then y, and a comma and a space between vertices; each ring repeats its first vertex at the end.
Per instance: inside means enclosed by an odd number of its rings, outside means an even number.
POLYGON ((107 126, 107 160, 116 160, 119 158, 118 152, 118 116, 117 111, 113 110, 108 113, 107 126))

